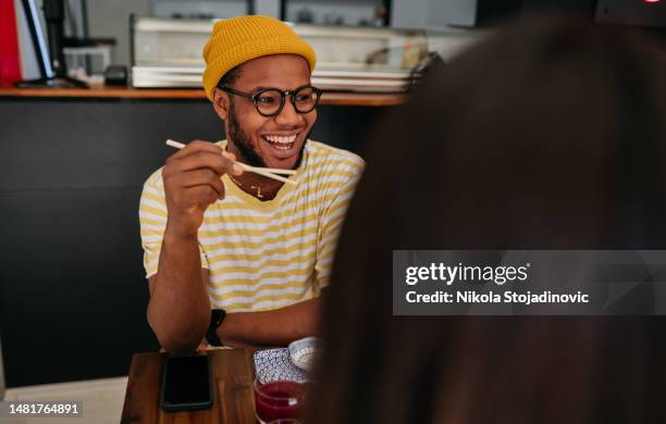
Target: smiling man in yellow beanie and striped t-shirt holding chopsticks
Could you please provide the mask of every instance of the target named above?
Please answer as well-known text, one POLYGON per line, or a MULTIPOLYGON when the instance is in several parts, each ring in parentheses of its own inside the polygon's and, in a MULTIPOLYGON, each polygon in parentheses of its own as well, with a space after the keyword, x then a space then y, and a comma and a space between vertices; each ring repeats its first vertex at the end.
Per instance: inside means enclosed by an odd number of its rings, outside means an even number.
POLYGON ((226 140, 195 140, 144 186, 148 321, 168 351, 276 346, 313 335, 362 160, 309 140, 312 48, 268 16, 219 21, 203 88, 226 140), (236 163, 293 170, 296 185, 236 163))

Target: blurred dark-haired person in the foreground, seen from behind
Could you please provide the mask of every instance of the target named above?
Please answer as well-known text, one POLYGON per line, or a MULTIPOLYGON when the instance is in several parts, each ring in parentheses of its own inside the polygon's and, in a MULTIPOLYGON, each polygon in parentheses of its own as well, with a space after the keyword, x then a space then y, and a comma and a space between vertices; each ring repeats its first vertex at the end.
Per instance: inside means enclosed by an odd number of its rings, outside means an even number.
POLYGON ((665 422, 662 316, 392 316, 391 266, 393 249, 666 248, 664 75, 636 35, 564 17, 433 70, 365 154, 311 422, 665 422))

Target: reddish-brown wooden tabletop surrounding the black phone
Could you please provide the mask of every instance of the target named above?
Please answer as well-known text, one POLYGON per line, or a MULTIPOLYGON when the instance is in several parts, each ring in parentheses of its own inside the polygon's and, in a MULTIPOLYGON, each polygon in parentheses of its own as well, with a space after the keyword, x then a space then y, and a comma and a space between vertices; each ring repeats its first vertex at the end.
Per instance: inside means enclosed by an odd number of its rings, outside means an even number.
POLYGON ((132 357, 121 423, 233 423, 255 424, 252 351, 210 350, 213 406, 208 410, 164 412, 160 406, 162 365, 166 353, 132 357))

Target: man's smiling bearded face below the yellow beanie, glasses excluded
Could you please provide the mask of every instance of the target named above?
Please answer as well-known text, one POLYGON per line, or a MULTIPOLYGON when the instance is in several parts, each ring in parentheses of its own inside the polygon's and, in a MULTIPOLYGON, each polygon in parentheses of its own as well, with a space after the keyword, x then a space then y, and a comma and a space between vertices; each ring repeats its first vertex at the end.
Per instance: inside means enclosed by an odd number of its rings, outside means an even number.
MULTIPOLYGON (((231 88, 256 93, 262 88, 294 90, 310 84, 308 62, 296 54, 273 54, 240 65, 231 88)), ((215 111, 225 121, 230 151, 255 166, 294 169, 300 161, 317 110, 298 113, 289 97, 275 116, 262 116, 248 98, 215 88, 215 111)))

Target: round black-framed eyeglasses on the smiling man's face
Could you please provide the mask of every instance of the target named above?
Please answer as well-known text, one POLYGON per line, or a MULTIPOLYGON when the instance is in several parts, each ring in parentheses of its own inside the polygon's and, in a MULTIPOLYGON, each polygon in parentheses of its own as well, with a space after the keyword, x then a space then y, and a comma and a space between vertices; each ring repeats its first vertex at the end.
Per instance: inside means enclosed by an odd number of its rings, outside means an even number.
POLYGON ((289 96, 294 109, 298 113, 311 112, 319 103, 321 90, 310 85, 301 86, 295 90, 283 91, 279 88, 263 88, 257 93, 243 92, 234 90, 231 87, 219 87, 222 91, 226 91, 234 96, 245 97, 250 99, 257 108, 257 112, 262 116, 275 116, 282 112, 284 108, 285 97, 289 96))

